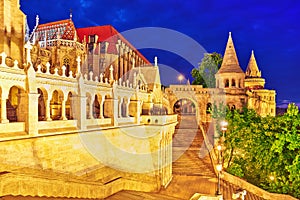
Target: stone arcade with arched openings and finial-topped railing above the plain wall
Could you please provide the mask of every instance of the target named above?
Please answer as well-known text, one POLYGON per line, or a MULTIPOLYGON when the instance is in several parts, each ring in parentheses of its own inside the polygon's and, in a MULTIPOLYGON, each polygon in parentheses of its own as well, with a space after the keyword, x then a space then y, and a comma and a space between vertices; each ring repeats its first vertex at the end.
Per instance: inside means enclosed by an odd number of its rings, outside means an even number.
MULTIPOLYGON (((54 130, 61 133, 140 124, 143 103, 148 103, 150 95, 147 85, 133 87, 129 80, 111 80, 93 72, 82 75, 70 71, 66 76, 65 66, 59 72, 58 68, 51 70, 49 62, 44 70, 41 65, 34 69, 28 54, 30 45, 26 45, 27 69, 21 69, 17 61, 8 66, 6 54, 0 54, 0 129, 5 133, 23 137, 24 133, 37 136, 54 130)), ((78 69, 80 65, 77 59, 78 69)))

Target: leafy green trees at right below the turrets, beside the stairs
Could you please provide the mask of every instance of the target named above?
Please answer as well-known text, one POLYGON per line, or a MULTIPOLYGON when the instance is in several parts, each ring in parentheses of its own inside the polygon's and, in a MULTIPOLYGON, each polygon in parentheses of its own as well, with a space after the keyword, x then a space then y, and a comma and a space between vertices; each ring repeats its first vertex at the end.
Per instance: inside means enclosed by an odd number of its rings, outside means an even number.
MULTIPOLYGON (((224 107, 213 107, 216 129, 224 107), (215 110, 214 110, 215 109, 215 110)), ((224 168, 270 192, 300 198, 300 114, 295 104, 282 116, 226 109, 224 168)), ((220 131, 219 131, 219 134, 220 131)))

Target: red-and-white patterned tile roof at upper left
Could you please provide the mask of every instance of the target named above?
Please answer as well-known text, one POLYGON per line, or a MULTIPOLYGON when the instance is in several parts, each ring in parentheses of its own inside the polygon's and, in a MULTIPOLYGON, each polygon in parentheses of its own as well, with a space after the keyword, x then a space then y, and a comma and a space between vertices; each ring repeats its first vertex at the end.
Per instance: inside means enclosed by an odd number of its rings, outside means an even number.
POLYGON ((65 19, 46 24, 38 25, 35 30, 37 40, 41 41, 45 39, 47 34, 47 40, 56 39, 58 34, 61 39, 74 40, 76 29, 71 19, 65 19))

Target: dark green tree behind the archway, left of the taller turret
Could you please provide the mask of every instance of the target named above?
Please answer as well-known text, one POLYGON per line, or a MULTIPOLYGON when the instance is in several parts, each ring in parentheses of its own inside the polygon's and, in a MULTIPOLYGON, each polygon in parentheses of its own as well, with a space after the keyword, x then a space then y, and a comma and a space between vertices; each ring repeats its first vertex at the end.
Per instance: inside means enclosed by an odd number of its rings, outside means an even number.
POLYGON ((191 71, 194 78, 193 85, 214 88, 216 85, 215 74, 221 67, 223 58, 219 53, 205 53, 198 68, 191 71))

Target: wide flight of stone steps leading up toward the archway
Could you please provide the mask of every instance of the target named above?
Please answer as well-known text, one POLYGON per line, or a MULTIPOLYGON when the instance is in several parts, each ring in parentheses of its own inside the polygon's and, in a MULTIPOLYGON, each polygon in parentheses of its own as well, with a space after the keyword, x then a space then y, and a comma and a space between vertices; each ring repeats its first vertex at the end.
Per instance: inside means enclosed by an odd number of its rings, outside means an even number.
POLYGON ((195 116, 181 117, 173 137, 173 174, 216 177, 195 116))

